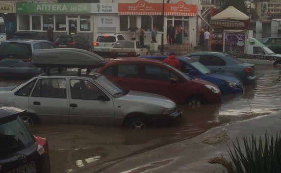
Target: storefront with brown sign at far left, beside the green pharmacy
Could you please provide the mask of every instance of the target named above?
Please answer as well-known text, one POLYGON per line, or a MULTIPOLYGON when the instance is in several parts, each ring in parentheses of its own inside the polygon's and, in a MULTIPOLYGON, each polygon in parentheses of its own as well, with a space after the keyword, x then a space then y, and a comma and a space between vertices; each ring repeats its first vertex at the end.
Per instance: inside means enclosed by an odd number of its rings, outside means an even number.
POLYGON ((16 31, 16 14, 13 3, 0 3, 0 17, 4 19, 7 39, 16 31))

